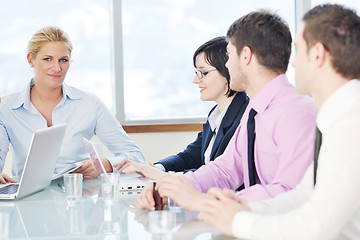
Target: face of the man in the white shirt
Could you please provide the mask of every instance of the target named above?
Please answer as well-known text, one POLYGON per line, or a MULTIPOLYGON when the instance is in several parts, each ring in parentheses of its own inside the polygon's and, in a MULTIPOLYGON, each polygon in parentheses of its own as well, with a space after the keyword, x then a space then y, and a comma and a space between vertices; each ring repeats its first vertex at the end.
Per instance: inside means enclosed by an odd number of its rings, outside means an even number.
POLYGON ((304 24, 302 24, 295 38, 296 55, 292 62, 292 66, 295 68, 296 91, 300 94, 310 94, 313 69, 310 64, 311 58, 307 51, 306 42, 303 37, 304 27, 304 24))

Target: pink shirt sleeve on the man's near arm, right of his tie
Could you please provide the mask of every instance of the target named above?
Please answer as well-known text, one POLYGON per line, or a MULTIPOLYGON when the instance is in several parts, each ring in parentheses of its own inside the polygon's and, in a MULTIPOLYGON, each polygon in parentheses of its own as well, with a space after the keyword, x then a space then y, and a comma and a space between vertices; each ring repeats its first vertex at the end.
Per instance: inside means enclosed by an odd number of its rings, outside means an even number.
MULTIPOLYGON (((295 188, 301 181, 314 157, 316 110, 309 106, 306 110, 282 114, 273 130, 278 161, 274 176, 270 181, 261 180, 261 184, 245 188, 237 193, 239 197, 248 201, 273 198, 295 188)), ((266 160, 260 160, 257 171, 273 167, 266 160)))

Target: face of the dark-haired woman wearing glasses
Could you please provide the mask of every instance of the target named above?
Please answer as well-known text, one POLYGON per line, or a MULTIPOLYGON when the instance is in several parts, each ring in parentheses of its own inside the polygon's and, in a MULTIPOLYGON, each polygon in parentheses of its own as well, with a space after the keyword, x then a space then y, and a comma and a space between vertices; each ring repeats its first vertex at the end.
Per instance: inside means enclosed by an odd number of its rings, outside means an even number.
POLYGON ((202 52, 196 57, 196 70, 202 72, 203 78, 195 74, 193 83, 200 88, 202 101, 215 101, 219 103, 221 99, 227 98, 227 81, 214 66, 205 61, 205 54, 202 52), (207 72, 207 73, 206 73, 207 72), (206 73, 206 74, 205 74, 206 73))

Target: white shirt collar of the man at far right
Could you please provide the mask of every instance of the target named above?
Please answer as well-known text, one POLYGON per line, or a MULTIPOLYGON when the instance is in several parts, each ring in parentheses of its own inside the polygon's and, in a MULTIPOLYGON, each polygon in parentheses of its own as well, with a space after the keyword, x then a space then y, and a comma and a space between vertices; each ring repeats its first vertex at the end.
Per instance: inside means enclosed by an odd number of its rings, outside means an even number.
MULTIPOLYGON (((316 124, 321 132, 328 131, 337 117, 343 116, 343 113, 347 111, 349 101, 352 101, 354 96, 357 97, 359 91, 360 81, 353 79, 337 89, 324 102, 316 118, 316 124)), ((355 99, 355 101, 357 101, 357 99, 355 99)))

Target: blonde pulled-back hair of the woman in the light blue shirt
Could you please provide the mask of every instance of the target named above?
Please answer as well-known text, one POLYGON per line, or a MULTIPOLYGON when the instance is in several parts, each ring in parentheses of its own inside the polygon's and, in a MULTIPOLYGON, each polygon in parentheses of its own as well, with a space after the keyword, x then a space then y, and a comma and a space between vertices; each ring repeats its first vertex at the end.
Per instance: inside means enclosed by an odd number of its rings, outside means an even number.
POLYGON ((36 57, 41 47, 48 42, 63 42, 71 55, 73 46, 69 36, 59 27, 47 26, 34 33, 28 43, 27 52, 36 57))

